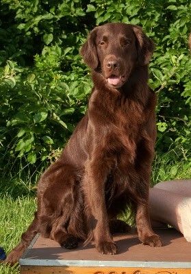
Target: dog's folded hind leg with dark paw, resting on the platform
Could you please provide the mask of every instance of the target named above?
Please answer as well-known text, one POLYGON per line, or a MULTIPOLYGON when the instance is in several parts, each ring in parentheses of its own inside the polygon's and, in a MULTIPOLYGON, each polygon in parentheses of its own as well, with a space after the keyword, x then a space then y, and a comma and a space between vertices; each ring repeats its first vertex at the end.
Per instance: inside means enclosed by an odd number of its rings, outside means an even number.
POLYGON ((61 247, 77 247, 77 237, 68 233, 68 224, 75 210, 77 189, 73 166, 55 163, 47 173, 44 173, 39 186, 39 220, 42 236, 57 241, 61 247))

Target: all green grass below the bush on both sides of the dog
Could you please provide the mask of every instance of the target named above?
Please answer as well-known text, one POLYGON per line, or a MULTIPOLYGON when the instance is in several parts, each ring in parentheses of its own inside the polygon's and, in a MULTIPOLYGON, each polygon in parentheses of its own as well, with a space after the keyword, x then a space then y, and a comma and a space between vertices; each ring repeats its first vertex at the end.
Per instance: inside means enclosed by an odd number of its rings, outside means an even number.
MULTIPOLYGON (((166 153, 153 162, 152 182, 191 178, 191 164, 166 153), (172 160, 173 159, 173 160, 172 160)), ((25 231, 36 209, 35 187, 21 178, 0 182, 0 245, 9 253, 25 231)), ((0 274, 18 274, 19 267, 0 264, 0 274)))

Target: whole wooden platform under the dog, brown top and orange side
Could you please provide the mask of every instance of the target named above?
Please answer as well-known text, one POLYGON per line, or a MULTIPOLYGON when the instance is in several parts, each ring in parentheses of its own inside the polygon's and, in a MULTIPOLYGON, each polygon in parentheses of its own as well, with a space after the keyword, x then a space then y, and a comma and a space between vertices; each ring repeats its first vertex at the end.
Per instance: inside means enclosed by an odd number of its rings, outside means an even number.
POLYGON ((62 249, 37 235, 20 260, 21 273, 191 274, 191 243, 175 229, 160 229, 163 247, 142 245, 135 232, 114 236, 118 254, 102 255, 93 245, 62 249))

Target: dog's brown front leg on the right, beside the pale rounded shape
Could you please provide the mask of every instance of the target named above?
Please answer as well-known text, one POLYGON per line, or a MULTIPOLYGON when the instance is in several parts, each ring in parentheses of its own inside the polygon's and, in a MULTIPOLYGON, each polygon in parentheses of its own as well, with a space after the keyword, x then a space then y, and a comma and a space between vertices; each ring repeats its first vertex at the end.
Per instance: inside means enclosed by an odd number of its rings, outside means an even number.
MULTIPOLYGON (((153 108, 155 97, 153 97, 153 108)), ((142 140, 138 144, 136 171, 139 176, 139 196, 137 203, 136 224, 138 236, 144 245, 151 247, 162 246, 160 236, 153 232, 149 216, 149 186, 151 182, 151 164, 154 157, 155 148, 155 114, 154 110, 148 115, 145 129, 142 132, 142 140)))

